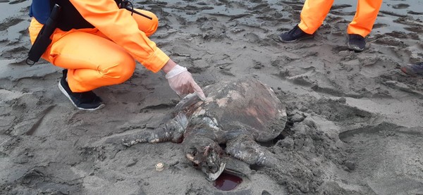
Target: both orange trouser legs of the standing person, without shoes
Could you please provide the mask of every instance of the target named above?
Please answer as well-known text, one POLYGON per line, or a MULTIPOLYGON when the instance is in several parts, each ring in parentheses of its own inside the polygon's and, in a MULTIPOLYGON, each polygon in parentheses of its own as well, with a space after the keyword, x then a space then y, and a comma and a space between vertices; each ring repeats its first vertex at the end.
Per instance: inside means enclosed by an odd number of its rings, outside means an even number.
MULTIPOLYGON (((313 34, 323 23, 331 10, 333 0, 306 0, 301 11, 300 29, 313 34)), ((372 31, 382 0, 358 0, 353 21, 348 25, 348 34, 360 34, 366 37, 372 31)))

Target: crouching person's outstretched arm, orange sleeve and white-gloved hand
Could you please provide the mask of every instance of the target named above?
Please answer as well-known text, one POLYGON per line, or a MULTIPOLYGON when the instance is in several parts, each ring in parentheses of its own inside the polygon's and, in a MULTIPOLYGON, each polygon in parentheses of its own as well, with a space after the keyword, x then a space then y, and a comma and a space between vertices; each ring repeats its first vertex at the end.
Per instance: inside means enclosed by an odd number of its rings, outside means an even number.
POLYGON ((166 79, 178 95, 196 93, 202 100, 204 92, 188 70, 173 62, 139 28, 132 15, 120 9, 114 0, 70 0, 82 17, 129 52, 147 69, 166 73, 166 79))

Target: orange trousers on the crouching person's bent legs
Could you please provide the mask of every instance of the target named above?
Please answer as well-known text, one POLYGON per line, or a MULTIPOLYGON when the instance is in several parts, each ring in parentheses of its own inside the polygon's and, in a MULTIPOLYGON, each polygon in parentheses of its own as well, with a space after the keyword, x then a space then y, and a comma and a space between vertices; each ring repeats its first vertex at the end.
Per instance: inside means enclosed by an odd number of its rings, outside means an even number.
MULTIPOLYGON (((133 14, 140 30, 147 36, 157 30, 156 15, 140 11, 153 20, 133 14)), ((42 25, 33 19, 29 27, 31 41, 42 25)), ((68 84, 73 92, 87 92, 98 87, 120 84, 128 80, 135 70, 135 59, 96 29, 63 32, 56 29, 52 43, 42 58, 61 68, 68 69, 68 84)))

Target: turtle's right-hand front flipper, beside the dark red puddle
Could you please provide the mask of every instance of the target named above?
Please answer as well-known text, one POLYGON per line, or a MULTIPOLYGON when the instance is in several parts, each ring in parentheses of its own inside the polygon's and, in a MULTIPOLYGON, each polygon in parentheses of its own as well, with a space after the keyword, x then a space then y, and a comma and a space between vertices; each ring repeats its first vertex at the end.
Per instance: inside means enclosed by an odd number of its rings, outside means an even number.
POLYGON ((274 153, 257 144, 248 134, 229 140, 226 143, 226 153, 250 165, 273 168, 278 163, 274 153))

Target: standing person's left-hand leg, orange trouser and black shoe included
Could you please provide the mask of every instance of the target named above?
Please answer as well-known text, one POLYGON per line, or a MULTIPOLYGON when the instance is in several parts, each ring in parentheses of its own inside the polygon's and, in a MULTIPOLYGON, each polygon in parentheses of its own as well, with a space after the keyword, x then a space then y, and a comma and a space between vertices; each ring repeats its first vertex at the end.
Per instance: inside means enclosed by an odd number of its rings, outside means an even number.
POLYGON ((300 24, 292 30, 279 35, 282 42, 297 42, 314 37, 314 32, 321 26, 331 10, 333 0, 306 0, 301 11, 300 24))

